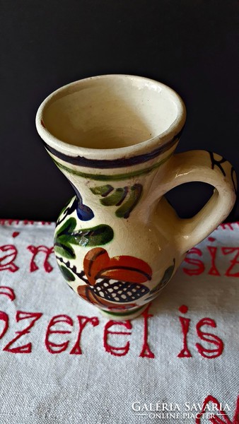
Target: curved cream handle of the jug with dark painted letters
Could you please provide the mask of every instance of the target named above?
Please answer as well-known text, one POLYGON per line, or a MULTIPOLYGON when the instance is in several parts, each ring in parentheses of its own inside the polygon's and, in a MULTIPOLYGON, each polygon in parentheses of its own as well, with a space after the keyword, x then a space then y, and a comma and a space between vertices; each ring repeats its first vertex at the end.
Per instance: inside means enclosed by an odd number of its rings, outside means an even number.
POLYGON ((175 242, 180 252, 185 253, 204 240, 231 212, 236 199, 235 170, 221 155, 208 151, 177 153, 168 167, 166 177, 161 180, 163 194, 185 182, 206 182, 214 187, 214 194, 201 211, 189 219, 177 217, 174 223, 175 242))

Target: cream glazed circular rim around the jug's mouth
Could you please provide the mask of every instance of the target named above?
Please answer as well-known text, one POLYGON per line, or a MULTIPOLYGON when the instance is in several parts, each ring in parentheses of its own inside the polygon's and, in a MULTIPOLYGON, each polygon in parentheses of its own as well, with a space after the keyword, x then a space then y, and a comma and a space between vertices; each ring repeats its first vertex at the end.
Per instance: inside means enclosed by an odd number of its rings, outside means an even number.
MULTIPOLYGON (((186 107, 185 103, 183 102, 180 95, 177 94, 173 88, 170 88, 169 86, 165 85, 164 83, 161 83, 160 81, 153 80, 151 78, 146 78, 144 76, 135 76, 135 75, 129 75, 129 74, 123 74, 123 73, 112 73, 112 74, 105 74, 100 76, 91 76, 88 78, 83 78, 80 80, 76 80, 74 82, 71 82, 69 84, 66 84, 57 90, 54 90, 51 94, 43 100, 40 107, 37 110, 36 118, 35 118, 35 124, 37 127, 37 132, 40 135, 40 137, 45 142, 46 148, 48 147, 49 150, 53 150, 55 152, 58 152, 62 155, 71 156, 72 158, 77 157, 85 157, 85 158, 91 158, 91 159, 98 159, 101 158, 110 158, 111 160, 114 160, 114 158, 117 158, 120 156, 124 156, 124 158, 129 158, 132 155, 140 155, 141 153, 148 153, 151 151, 154 151, 157 148, 160 148, 160 150, 163 150, 163 147, 165 145, 168 145, 170 143, 170 147, 173 146, 174 143, 177 143, 177 141, 180 139, 180 135, 182 134, 182 129, 185 125, 186 120, 186 107), (170 96, 173 96, 173 102, 175 102, 175 105, 177 107, 177 116, 175 117, 174 121, 170 126, 168 126, 165 131, 163 131, 161 134, 158 134, 156 136, 153 136, 147 140, 140 141, 136 144, 130 144, 129 146, 123 146, 123 147, 115 147, 115 148, 89 148, 84 146, 76 146, 71 143, 67 143, 66 141, 63 141, 61 139, 58 139, 56 136, 54 136, 45 126, 43 115, 46 110, 46 108, 54 101, 54 98, 57 96, 60 96, 61 93, 66 93, 68 90, 72 90, 76 85, 81 85, 83 83, 92 81, 92 80, 99 80, 102 78, 130 78, 132 81, 141 81, 146 83, 151 83, 154 86, 157 86, 158 88, 161 88, 162 90, 166 90, 170 96)), ((54 153, 54 152, 52 152, 54 153)))

